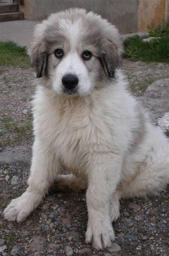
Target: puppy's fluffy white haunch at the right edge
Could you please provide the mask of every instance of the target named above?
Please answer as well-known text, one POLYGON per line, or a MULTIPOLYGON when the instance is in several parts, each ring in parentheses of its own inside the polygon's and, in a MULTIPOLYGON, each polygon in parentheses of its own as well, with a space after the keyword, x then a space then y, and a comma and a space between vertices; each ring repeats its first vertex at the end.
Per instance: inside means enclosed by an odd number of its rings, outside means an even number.
POLYGON ((165 190, 169 183, 169 144, 162 139, 154 142, 132 181, 123 183, 123 198, 159 195, 160 191, 165 190))

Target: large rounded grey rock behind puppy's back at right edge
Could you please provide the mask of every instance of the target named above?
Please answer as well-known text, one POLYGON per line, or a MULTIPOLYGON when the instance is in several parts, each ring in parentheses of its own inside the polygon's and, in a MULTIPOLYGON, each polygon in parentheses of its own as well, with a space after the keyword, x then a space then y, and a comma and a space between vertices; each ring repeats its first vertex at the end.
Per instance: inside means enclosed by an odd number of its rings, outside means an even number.
POLYGON ((169 78, 160 79, 150 84, 140 97, 149 116, 157 123, 159 117, 169 112, 169 78))

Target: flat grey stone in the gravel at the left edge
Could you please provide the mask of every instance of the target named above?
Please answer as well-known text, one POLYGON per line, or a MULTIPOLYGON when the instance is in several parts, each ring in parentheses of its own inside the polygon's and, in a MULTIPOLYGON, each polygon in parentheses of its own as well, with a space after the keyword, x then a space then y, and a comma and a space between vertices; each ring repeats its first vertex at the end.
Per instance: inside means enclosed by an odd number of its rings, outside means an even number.
POLYGON ((0 152, 0 165, 9 164, 13 167, 29 167, 31 164, 31 150, 24 146, 17 146, 0 152))

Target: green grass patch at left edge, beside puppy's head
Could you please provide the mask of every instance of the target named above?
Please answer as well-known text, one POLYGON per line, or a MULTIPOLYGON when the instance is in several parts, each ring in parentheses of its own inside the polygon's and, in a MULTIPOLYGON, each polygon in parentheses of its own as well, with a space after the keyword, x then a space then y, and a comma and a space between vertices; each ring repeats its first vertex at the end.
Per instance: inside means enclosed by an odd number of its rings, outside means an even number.
MULTIPOLYGON (((30 67, 30 60, 26 54, 26 47, 15 42, 0 42, 0 65, 12 65, 22 68, 30 67)), ((3 69, 0 73, 4 72, 3 69)))

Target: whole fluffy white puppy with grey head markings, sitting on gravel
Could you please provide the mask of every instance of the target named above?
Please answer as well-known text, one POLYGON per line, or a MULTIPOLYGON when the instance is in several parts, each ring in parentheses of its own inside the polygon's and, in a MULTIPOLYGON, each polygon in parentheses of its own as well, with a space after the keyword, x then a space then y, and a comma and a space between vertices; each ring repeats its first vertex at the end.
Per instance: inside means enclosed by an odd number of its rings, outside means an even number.
POLYGON ((122 43, 107 20, 83 9, 51 14, 29 49, 37 90, 29 187, 4 210, 23 221, 49 187, 87 188, 86 242, 111 246, 119 199, 158 194, 169 182, 169 144, 126 89, 122 43), (67 166, 72 175, 60 175, 67 166))

